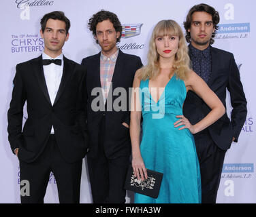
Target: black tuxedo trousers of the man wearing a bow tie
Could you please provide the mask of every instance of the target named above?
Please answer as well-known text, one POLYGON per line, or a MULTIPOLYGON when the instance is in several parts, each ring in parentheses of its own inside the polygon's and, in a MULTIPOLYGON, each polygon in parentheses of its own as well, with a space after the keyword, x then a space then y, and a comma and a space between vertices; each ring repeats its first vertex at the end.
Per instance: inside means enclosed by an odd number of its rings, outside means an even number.
MULTIPOLYGON (((44 203, 50 172, 57 181, 59 202, 79 203, 82 159, 67 163, 61 156, 54 135, 50 135, 44 151, 35 161, 20 161, 20 181, 29 182, 29 196, 21 194, 21 203, 44 203)), ((20 185, 20 189, 22 187, 20 185)))

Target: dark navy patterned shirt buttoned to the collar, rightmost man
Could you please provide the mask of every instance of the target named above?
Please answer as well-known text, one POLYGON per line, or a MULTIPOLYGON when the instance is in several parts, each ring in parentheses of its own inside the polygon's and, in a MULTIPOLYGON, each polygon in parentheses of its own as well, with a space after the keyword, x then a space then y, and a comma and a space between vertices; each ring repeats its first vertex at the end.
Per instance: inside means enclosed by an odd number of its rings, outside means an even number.
POLYGON ((205 50, 198 50, 190 44, 189 50, 191 52, 190 58, 193 71, 195 71, 195 73, 202 77, 202 79, 204 79, 204 81, 207 83, 212 71, 212 56, 210 54, 210 46, 208 46, 205 50))

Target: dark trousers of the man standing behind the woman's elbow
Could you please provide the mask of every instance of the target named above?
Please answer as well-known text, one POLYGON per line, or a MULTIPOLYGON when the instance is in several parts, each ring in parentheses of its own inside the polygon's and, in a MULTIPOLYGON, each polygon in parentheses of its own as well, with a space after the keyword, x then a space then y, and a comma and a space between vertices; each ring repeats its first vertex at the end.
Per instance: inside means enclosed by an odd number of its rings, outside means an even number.
POLYGON ((216 203, 226 150, 219 149, 207 130, 194 135, 200 164, 202 203, 216 203))

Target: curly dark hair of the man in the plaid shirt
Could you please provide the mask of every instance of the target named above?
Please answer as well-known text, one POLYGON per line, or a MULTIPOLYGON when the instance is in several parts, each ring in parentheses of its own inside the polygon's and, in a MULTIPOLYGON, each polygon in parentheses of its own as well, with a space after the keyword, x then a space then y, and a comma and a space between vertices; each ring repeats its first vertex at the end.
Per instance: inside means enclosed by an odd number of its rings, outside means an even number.
MULTIPOLYGON (((97 12, 96 14, 93 14, 93 16, 89 19, 88 23, 90 31, 93 32, 94 36, 96 36, 96 26, 99 22, 102 22, 104 20, 110 20, 110 22, 112 22, 116 32, 120 33, 120 36, 118 37, 118 39, 116 39, 116 42, 120 42, 122 36, 122 25, 121 22, 118 20, 116 14, 112 12, 108 12, 106 10, 101 9, 101 11, 97 12)), ((96 43, 99 43, 97 39, 96 43)))

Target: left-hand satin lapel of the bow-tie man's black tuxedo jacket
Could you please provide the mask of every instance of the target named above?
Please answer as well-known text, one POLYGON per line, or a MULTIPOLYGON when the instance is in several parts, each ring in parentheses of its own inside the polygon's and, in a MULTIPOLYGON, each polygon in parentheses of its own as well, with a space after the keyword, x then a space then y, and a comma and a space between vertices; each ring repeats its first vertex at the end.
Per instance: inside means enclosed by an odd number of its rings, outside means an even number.
POLYGON ((44 96, 46 97, 46 99, 48 100, 48 102, 51 105, 50 96, 48 94, 48 89, 47 89, 47 85, 46 85, 46 79, 44 78, 42 55, 39 56, 37 59, 35 59, 35 62, 33 63, 33 70, 35 71, 35 75, 37 77, 39 87, 42 89, 44 96))

